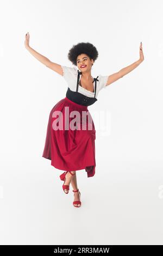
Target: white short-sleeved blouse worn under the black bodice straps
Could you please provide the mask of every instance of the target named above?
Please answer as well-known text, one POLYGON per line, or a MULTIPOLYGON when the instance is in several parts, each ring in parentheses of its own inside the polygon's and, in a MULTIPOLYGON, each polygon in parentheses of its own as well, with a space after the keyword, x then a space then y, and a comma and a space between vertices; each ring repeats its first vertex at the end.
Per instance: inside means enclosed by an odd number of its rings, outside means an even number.
MULTIPOLYGON (((73 92, 76 92, 78 69, 76 68, 76 66, 73 66, 73 68, 71 68, 70 66, 62 66, 62 65, 61 65, 61 68, 64 72, 63 77, 66 80, 68 87, 73 92)), ((80 81, 81 76, 82 76, 82 74, 80 74, 79 81, 80 81)), ((94 77, 94 78, 96 78, 96 77, 94 77)), ((97 98, 99 91, 102 90, 103 88, 106 88, 108 76, 98 75, 97 80, 98 81, 97 81, 97 87, 96 87, 96 98, 97 98)), ((94 85, 94 91, 95 91, 95 81, 93 82, 93 85, 94 85)), ((95 92, 91 92, 90 90, 87 90, 82 86, 78 87, 78 92, 82 93, 83 95, 85 95, 87 97, 94 97, 94 95, 95 95, 95 92)))

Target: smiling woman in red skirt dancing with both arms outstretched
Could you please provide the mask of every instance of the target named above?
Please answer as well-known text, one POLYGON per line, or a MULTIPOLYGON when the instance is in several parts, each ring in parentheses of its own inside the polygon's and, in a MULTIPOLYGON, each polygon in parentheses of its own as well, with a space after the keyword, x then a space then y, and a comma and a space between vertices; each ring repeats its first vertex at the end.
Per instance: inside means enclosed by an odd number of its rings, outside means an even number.
POLYGON ((143 61, 142 42, 139 60, 115 74, 99 75, 96 78, 91 76, 91 68, 98 57, 98 51, 89 42, 73 45, 69 51, 68 59, 74 65, 73 68, 53 63, 36 52, 29 46, 29 33, 26 34, 24 43, 26 49, 36 59, 63 76, 67 82, 66 97, 55 104, 49 114, 42 156, 51 160, 51 165, 55 168, 66 171, 60 175, 60 179, 64 180, 62 188, 65 193, 68 193, 71 183, 74 192, 73 205, 80 207, 82 203, 76 171, 85 169, 87 177, 92 177, 95 175, 96 167, 96 130, 87 106, 97 101, 97 95, 101 89, 128 74, 143 61))

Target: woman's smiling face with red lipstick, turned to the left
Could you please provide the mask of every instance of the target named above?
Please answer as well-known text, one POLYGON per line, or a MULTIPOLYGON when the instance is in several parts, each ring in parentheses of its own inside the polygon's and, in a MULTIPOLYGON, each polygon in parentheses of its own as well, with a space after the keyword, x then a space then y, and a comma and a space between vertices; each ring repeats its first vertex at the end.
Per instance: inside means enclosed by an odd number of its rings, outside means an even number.
POLYGON ((92 64, 93 64, 93 59, 90 59, 89 56, 87 56, 86 54, 82 53, 78 55, 77 66, 80 71, 84 72, 84 71, 91 70, 92 64), (82 65, 85 65, 85 67, 81 68, 82 65))

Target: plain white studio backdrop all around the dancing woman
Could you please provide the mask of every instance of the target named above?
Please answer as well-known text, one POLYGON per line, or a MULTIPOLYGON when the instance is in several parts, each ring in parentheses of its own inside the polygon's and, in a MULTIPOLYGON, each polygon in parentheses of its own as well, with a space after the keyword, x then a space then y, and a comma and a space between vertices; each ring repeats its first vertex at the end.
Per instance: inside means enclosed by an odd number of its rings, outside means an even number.
MULTIPOLYGON (((1 1, 1 245, 156 245, 163 241, 162 1, 1 1), (77 173, 82 207, 61 170, 42 157, 49 112, 67 84, 35 59, 72 66, 67 54, 91 42, 92 75, 132 72, 89 107, 109 113, 96 130, 96 174, 77 173)), ((98 127, 95 120, 95 127, 98 127)))

